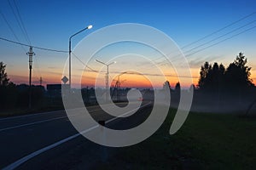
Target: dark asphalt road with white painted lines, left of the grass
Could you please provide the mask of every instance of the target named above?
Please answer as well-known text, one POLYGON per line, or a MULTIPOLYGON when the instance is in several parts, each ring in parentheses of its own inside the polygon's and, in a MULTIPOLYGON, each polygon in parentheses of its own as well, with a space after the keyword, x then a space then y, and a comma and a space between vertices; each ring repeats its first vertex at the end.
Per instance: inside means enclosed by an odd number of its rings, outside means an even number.
MULTIPOLYGON (((136 114, 118 119, 99 106, 87 109, 96 120, 113 120, 106 127, 127 129, 143 122, 151 107, 150 102, 144 102, 136 114)), ((69 122, 65 111, 0 119, 0 150, 1 169, 93 168, 117 151, 85 139, 69 122)))

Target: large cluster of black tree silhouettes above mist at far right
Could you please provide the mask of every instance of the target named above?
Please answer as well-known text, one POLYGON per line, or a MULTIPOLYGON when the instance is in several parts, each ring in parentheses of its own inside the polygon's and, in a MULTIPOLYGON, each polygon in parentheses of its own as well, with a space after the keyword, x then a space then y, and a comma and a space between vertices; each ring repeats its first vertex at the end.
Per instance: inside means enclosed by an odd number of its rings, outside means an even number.
POLYGON ((212 93, 221 90, 226 92, 245 90, 253 87, 253 81, 249 78, 250 71, 251 67, 247 66, 247 59, 242 53, 236 56, 227 69, 222 64, 214 63, 212 66, 206 62, 201 66, 198 86, 201 90, 212 93))

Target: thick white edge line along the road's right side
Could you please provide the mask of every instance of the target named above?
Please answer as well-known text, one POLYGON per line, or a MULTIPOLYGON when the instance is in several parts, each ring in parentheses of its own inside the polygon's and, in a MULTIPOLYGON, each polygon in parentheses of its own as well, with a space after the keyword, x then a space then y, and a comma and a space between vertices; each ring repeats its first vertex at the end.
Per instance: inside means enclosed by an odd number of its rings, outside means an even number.
MULTIPOLYGON (((151 104, 151 102, 149 102, 148 104, 142 105, 141 107, 139 107, 139 109, 145 107, 146 105, 150 105, 150 104, 151 104)), ((136 108, 136 109, 137 109, 137 108, 136 108)), ((134 111, 134 110, 132 110, 132 111, 134 111)), ((128 114, 128 113, 130 113, 130 112, 131 112, 131 111, 127 111, 127 112, 125 112, 124 114, 122 114, 122 115, 120 115, 120 116, 125 116, 126 114, 128 114)), ((119 117, 119 116, 118 116, 118 117, 119 117)), ((118 117, 114 117, 114 118, 108 120, 106 123, 112 122, 112 121, 114 121, 115 119, 117 119, 118 117)), ((81 132, 81 133, 82 133, 82 134, 83 134, 83 133, 88 133, 88 132, 90 132, 91 130, 95 129, 96 127, 99 127, 99 125, 90 127, 90 128, 84 130, 84 131, 81 132)), ((47 150, 51 150, 51 149, 55 148, 56 146, 58 146, 58 145, 60 145, 60 144, 63 144, 63 143, 65 143, 65 142, 67 142, 67 141, 69 141, 69 140, 71 140, 71 139, 75 139, 75 138, 79 137, 79 135, 80 135, 81 133, 73 134, 72 136, 67 137, 66 139, 61 139, 60 141, 56 142, 55 144, 50 144, 50 145, 48 145, 48 146, 42 148, 41 150, 37 150, 37 151, 35 151, 35 152, 32 152, 31 154, 29 154, 29 155, 27 155, 27 156, 25 156, 25 157, 22 157, 22 158, 20 158, 19 160, 15 161, 15 162, 13 162, 13 163, 11 163, 11 164, 9 164, 9 166, 3 167, 3 170, 12 170, 12 169, 15 169, 16 167, 19 167, 22 163, 24 163, 24 162, 26 162, 26 161, 32 159, 32 157, 38 156, 39 154, 41 154, 41 153, 43 153, 43 152, 45 152, 45 151, 47 151, 47 150)))

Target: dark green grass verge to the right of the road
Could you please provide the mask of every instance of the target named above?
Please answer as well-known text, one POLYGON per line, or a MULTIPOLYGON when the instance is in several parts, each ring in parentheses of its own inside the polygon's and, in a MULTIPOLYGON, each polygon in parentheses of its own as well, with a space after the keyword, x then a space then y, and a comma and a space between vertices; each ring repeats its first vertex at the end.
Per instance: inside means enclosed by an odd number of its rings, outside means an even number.
POLYGON ((255 169, 256 118, 190 113, 174 135, 175 110, 149 139, 119 149, 96 169, 255 169))

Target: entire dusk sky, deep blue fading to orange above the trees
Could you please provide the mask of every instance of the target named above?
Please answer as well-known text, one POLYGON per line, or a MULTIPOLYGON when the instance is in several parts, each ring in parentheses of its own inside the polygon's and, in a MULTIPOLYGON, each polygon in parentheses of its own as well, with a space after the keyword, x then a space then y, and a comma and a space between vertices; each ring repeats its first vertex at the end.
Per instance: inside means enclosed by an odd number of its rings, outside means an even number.
MULTIPOLYGON (((225 66, 228 66, 239 52, 246 55, 247 65, 252 67, 251 78, 253 78, 255 83, 256 28, 254 26, 256 26, 256 14, 253 14, 255 11, 256 2, 253 0, 2 0, 0 1, 0 37, 37 47, 67 51, 68 38, 84 27, 93 25, 92 29, 83 31, 76 37, 73 37, 72 48, 74 51, 75 47, 84 37, 90 36, 105 26, 121 23, 138 23, 152 26, 172 38, 173 42, 181 48, 186 59, 188 59, 195 84, 198 82, 200 67, 205 61, 209 61, 212 64, 214 62, 223 63, 225 66), (245 18, 245 16, 247 17, 245 18), (237 21, 235 24, 229 26, 235 21, 237 21), (224 28, 224 26, 228 27, 218 31, 224 28), (24 31, 23 27, 25 27, 26 31, 24 31), (215 31, 218 32, 212 34, 215 31), (207 35, 211 36, 206 37, 207 35), (206 38, 201 39, 202 37, 206 38), (201 41, 195 42, 199 39, 201 41), (190 44, 191 42, 195 43, 190 44), (190 45, 187 46, 188 44, 190 45), (212 47, 206 48, 211 45, 212 47)), ((101 57, 96 59, 108 63, 112 54, 119 54, 116 52, 118 49, 119 51, 121 51, 120 49, 132 49, 133 53, 143 51, 143 49, 148 51, 143 45, 120 43, 113 45, 113 48, 111 46, 108 49, 102 48, 102 51, 98 52, 101 54, 101 57), (140 48, 138 49, 138 47, 140 48), (109 56, 109 58, 106 56, 109 56)), ((0 60, 7 65, 10 81, 18 84, 28 82, 28 56, 26 55, 28 50, 28 47, 0 40, 0 60)), ((43 79, 43 85, 61 83, 62 73, 65 70, 63 68, 67 62, 68 54, 50 52, 38 48, 34 48, 33 51, 36 54, 33 56, 33 84, 39 84, 40 77, 43 79)), ((153 54, 145 52, 144 55, 153 56, 153 54)), ((153 59, 163 63, 164 60, 157 60, 157 56, 155 54, 153 59)), ((132 58, 134 56, 129 57, 132 58)), ((78 58, 84 62, 83 56, 78 56, 78 58)), ((137 59, 135 58, 137 67, 144 68, 145 76, 149 75, 161 86, 163 82, 157 78, 157 74, 154 71, 148 71, 148 64, 137 59), (152 76, 152 74, 155 75, 152 76)), ((79 62, 78 59, 73 59, 73 71, 75 71, 74 69, 79 70, 79 68, 76 68, 76 63, 79 65, 79 62)), ((109 67, 110 79, 116 79, 117 72, 121 71, 120 68, 123 69, 124 67, 125 64, 121 65, 121 59, 119 59, 117 64, 111 65, 109 67)), ((170 70, 168 70, 169 67, 166 67, 166 65, 161 67, 164 70, 164 74, 171 75, 166 77, 166 79, 171 82, 173 88, 175 83, 179 81, 177 74, 171 67, 170 70)), ((96 62, 90 62, 90 68, 97 71, 102 69, 102 72, 100 71, 101 74, 99 74, 98 72, 91 71, 88 74, 84 74, 82 82, 84 86, 92 86, 96 77, 99 77, 100 84, 104 86, 106 67, 96 62)), ((65 71, 64 73, 66 74, 65 71)), ((143 82, 144 77, 141 77, 141 75, 134 74, 133 77, 132 75, 122 76, 122 85, 124 87, 132 87, 143 82)), ((77 81, 76 75, 74 75, 73 79, 77 81)), ((188 86, 189 84, 185 85, 188 86)))

